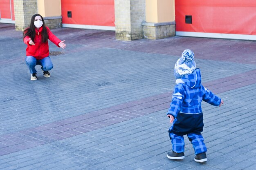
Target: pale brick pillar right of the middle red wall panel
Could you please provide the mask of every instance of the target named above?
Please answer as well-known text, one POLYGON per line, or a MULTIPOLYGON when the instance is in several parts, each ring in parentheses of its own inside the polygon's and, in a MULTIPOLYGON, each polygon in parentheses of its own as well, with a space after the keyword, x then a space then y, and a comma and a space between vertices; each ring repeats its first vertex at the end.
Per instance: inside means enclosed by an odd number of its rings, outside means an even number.
POLYGON ((145 0, 115 0, 115 30, 117 40, 143 38, 145 0))

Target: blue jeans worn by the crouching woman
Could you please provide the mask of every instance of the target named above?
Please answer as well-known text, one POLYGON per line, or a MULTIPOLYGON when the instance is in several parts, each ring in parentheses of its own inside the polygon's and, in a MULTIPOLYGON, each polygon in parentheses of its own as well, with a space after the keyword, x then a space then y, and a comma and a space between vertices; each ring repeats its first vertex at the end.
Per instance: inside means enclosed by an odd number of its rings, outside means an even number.
POLYGON ((49 56, 45 57, 41 60, 38 60, 38 59, 34 58, 33 56, 27 56, 26 64, 27 64, 27 67, 29 67, 29 71, 31 74, 36 73, 36 68, 35 68, 36 65, 42 66, 41 69, 44 72, 49 71, 53 68, 52 60, 49 56))

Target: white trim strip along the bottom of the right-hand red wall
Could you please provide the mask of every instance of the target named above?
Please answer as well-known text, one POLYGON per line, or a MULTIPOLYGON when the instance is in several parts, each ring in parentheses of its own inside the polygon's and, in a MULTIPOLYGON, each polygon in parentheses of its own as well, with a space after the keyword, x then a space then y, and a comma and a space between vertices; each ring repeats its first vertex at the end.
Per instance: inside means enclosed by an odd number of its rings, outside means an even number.
POLYGON ((256 40, 256 35, 186 32, 186 31, 176 31, 176 36, 227 38, 227 39, 238 39, 238 40, 256 40))

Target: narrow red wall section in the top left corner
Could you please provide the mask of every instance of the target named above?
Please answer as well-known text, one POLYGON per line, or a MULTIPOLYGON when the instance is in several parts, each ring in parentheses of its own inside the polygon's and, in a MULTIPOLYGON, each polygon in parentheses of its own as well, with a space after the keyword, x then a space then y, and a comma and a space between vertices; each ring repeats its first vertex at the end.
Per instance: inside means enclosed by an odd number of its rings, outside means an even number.
POLYGON ((10 8, 10 0, 0 0, 0 12, 1 18, 4 19, 11 19, 12 13, 12 20, 14 20, 14 7, 13 7, 13 0, 11 0, 11 8, 10 8))

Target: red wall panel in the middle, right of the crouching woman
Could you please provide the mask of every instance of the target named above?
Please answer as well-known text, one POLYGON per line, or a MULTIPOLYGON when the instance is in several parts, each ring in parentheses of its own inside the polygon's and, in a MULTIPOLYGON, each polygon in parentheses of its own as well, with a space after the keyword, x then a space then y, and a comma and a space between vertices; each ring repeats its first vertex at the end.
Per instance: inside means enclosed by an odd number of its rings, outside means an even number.
POLYGON ((61 15, 63 24, 115 26, 114 0, 61 0, 61 15))

